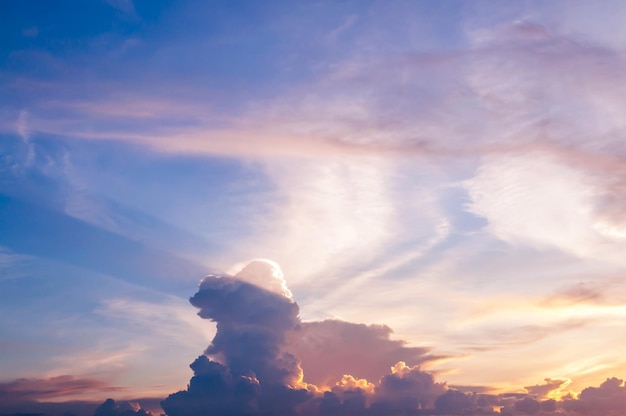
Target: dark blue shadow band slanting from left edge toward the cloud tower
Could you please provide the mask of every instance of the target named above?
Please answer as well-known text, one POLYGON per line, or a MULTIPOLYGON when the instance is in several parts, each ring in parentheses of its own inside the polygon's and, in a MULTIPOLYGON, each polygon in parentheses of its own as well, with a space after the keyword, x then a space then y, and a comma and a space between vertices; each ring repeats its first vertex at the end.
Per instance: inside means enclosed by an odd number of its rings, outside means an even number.
POLYGON ((203 270, 192 260, 1 193, 0 221, 6 224, 0 234, 0 245, 123 279, 169 281, 181 273, 190 277, 203 270))

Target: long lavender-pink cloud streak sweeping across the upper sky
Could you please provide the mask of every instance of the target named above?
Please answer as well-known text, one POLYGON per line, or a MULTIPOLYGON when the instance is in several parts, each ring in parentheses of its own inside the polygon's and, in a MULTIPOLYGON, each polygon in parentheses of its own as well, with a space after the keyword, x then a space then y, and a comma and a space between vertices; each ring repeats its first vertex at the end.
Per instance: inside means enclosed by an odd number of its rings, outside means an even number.
MULTIPOLYGON (((446 120, 450 118, 449 121, 452 123, 441 122, 442 120, 435 120, 435 123, 433 120, 420 116, 416 121, 411 122, 412 124, 407 125, 408 121, 400 121, 406 120, 401 117, 407 112, 406 110, 398 110, 402 113, 394 113, 390 112, 396 110, 392 107, 392 110, 386 112, 378 111, 380 103, 384 102, 384 98, 391 98, 391 93, 394 91, 394 82, 389 77, 388 70, 382 70, 382 68, 389 68, 389 62, 383 61, 375 64, 352 65, 353 69, 348 74, 329 75, 326 79, 319 80, 315 89, 299 90, 293 94, 293 98, 281 98, 275 103, 270 102, 269 110, 267 110, 268 103, 253 104, 250 110, 242 113, 238 119, 227 121, 226 128, 206 126, 207 114, 212 113, 210 107, 199 109, 197 104, 184 101, 161 101, 160 104, 157 101, 157 104, 154 104, 152 100, 148 105, 141 105, 141 108, 147 110, 137 113, 136 102, 129 101, 125 104, 124 100, 121 102, 116 100, 115 106, 111 103, 94 104, 93 102, 90 102, 89 106, 82 106, 80 102, 74 106, 80 110, 81 115, 90 116, 94 121, 102 115, 110 119, 115 114, 123 115, 125 119, 131 120, 141 119, 147 115, 171 120, 172 110, 170 109, 173 108, 176 113, 187 115, 186 121, 192 121, 191 124, 194 127, 182 130, 176 127, 170 128, 172 133, 165 135, 158 132, 131 133, 123 129, 113 129, 109 132, 103 132, 100 129, 96 133, 72 129, 71 118, 67 119, 70 124, 66 127, 62 125, 54 127, 54 123, 60 120, 57 117, 55 120, 41 120, 41 126, 37 129, 42 133, 49 132, 77 138, 108 137, 140 141, 164 151, 207 152, 208 154, 236 156, 255 156, 256 154, 263 157, 263 152, 269 147, 278 151, 278 154, 286 152, 288 155, 341 154, 345 151, 350 154, 382 152, 390 156, 408 153, 413 156, 422 154, 455 157, 482 155, 490 151, 509 152, 537 145, 551 145, 555 146, 554 151, 567 151, 573 145, 574 148, 586 151, 599 151, 600 154, 604 153, 604 158, 611 160, 614 153, 606 154, 598 145, 589 148, 582 142, 582 139, 585 135, 593 134, 596 140, 600 139, 601 142, 614 141, 610 139, 610 136, 615 136, 623 130, 623 126, 619 124, 619 118, 610 118, 612 124, 603 127, 603 131, 590 131, 589 125, 585 125, 573 135, 566 134, 560 129, 565 128, 566 121, 578 111, 568 103, 571 102, 566 92, 568 89, 543 87, 554 84, 589 85, 589 88, 577 90, 579 102, 577 105, 591 109, 591 117, 606 117, 621 102, 620 94, 611 88, 611 85, 620 84, 621 73, 612 68, 622 67, 622 58, 613 51, 581 45, 556 34, 547 33, 539 38, 529 37, 524 30, 526 25, 528 24, 522 22, 503 28, 502 30, 510 34, 508 38, 502 37, 498 31, 489 36, 483 36, 474 49, 457 52, 453 55, 454 59, 444 58, 446 55, 434 60, 430 56, 424 58, 418 56, 404 58, 397 62, 398 66, 412 69, 416 75, 425 72, 426 79, 429 79, 429 76, 432 77, 433 72, 436 71, 443 74, 439 76, 456 80, 456 83, 441 82, 441 85, 455 85, 459 82, 463 85, 464 88, 460 90, 466 99, 461 103, 471 103, 469 111, 464 107, 461 112, 454 106, 454 102, 450 101, 449 98, 458 94, 455 90, 444 89, 437 91, 438 94, 434 95, 434 99, 439 104, 437 116, 446 117, 446 120), (501 44, 494 46, 493 42, 501 44), (497 64, 500 61, 509 65, 511 63, 520 65, 513 73, 509 72, 505 78, 498 69, 497 64), (576 65, 571 65, 571 62, 576 62, 576 65), (433 71, 430 71, 430 67, 433 67, 433 71), (565 68, 570 70, 564 71, 565 68), (564 72, 568 74, 568 77, 561 77, 558 82, 552 82, 552 78, 564 72), (542 76, 536 77, 537 73, 542 76), (364 80, 362 75, 368 75, 369 78, 364 80), (511 76, 514 78, 512 79, 511 76), (357 89, 364 85, 367 91, 371 92, 369 96, 346 93, 339 95, 332 92, 345 90, 346 87, 357 89), (544 95, 535 97, 532 92, 541 89, 545 90, 544 95), (513 90, 519 92, 511 94, 513 90), (538 101, 539 99, 541 101, 538 101), (536 115, 539 113, 535 113, 545 108, 553 109, 551 118, 549 120, 537 119, 536 115), (468 118, 473 114, 472 109, 482 116, 487 116, 490 122, 487 124, 482 122, 483 127, 478 128, 476 122, 468 118), (392 116, 392 119, 386 121, 386 114, 392 116), (374 121, 367 121, 372 119, 374 121), (199 126, 198 123, 204 124, 204 127, 199 126), (470 124, 464 126, 463 123, 470 124), (501 128, 504 123, 509 125, 508 129, 501 128), (47 125, 52 128, 47 128, 47 125), (470 129, 467 130, 467 127, 470 129), (615 131, 607 130, 610 128, 615 131), (507 131, 507 133, 502 134, 502 131, 507 131), (469 136, 474 136, 473 140, 467 142, 471 143, 470 146, 463 143, 463 140, 469 136), (435 141, 438 137, 447 139, 441 143, 435 141), (567 140, 563 141, 565 137, 567 140), (269 144, 277 146, 268 146, 269 144)), ((341 74, 340 70, 339 74, 341 74)), ((423 81, 420 81, 416 75, 404 83, 416 88, 415 93, 407 94, 406 97, 395 97, 395 99, 400 102, 406 101, 409 104, 408 108, 420 110, 421 100, 431 98, 419 88, 423 81)), ((68 115, 72 112, 70 111, 68 115)), ((218 116, 217 120, 219 119, 218 116)), ((37 125, 36 122, 34 123, 37 125)), ((573 132, 571 127, 567 128, 568 131, 573 132)), ((265 154, 270 157, 272 155, 277 154, 265 154)), ((621 165, 623 168, 623 163, 621 165)))

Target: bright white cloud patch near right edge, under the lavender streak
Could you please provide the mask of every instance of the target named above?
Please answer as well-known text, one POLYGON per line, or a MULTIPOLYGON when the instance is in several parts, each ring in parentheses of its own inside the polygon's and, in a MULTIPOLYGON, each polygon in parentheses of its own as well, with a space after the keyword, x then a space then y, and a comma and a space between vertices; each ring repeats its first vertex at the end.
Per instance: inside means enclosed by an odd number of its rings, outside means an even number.
POLYGON ((468 210, 511 244, 617 260, 619 235, 596 213, 600 192, 584 172, 540 154, 486 157, 465 183, 468 210))

